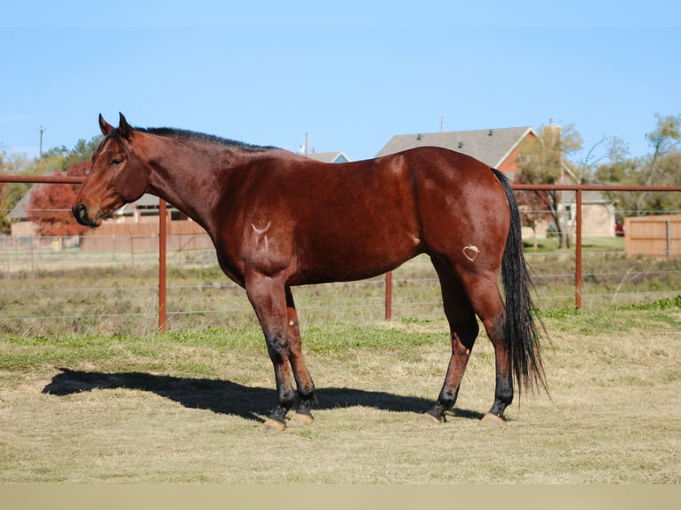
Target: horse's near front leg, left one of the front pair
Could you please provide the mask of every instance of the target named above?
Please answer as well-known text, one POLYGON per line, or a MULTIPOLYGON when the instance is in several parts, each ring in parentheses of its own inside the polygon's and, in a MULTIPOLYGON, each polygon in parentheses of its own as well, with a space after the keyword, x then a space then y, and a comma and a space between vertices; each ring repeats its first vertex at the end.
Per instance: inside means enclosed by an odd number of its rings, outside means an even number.
POLYGON ((265 421, 266 430, 281 431, 286 428, 286 413, 295 403, 295 391, 290 369, 291 345, 287 336, 288 315, 284 282, 267 275, 247 275, 246 294, 255 310, 265 341, 269 358, 275 369, 276 397, 278 405, 265 421))

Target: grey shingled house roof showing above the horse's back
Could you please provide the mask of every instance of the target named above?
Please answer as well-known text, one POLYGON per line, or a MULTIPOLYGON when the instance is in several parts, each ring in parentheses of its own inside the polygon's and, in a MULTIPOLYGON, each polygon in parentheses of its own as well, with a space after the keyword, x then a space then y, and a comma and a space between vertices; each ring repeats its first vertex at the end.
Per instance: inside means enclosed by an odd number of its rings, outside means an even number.
POLYGON ((396 135, 381 148, 377 156, 395 154, 413 147, 436 146, 471 155, 497 168, 529 133, 539 138, 536 131, 527 126, 396 135))

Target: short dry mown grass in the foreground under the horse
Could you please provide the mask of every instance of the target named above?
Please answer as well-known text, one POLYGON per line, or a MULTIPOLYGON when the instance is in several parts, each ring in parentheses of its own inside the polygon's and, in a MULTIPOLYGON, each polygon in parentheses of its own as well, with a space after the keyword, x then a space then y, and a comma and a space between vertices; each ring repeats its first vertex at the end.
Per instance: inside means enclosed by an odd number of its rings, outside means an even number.
POLYGON ((445 375, 441 319, 308 326, 316 422, 260 426, 274 405, 254 325, 164 335, 5 334, 0 482, 665 483, 681 481, 681 298, 544 316, 551 398, 502 428, 478 339, 459 402, 421 420, 445 375))

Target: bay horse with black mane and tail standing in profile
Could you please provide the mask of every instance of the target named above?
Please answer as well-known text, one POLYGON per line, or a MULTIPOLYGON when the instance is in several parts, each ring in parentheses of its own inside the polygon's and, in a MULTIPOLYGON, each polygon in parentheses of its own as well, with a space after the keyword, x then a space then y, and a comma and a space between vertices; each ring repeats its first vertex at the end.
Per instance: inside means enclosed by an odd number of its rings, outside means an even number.
POLYGON ((315 385, 291 288, 381 275, 421 253, 437 270, 452 343, 445 383, 425 416, 441 422, 453 408, 477 317, 496 371, 482 422, 505 423, 514 379, 518 391, 546 387, 517 203, 500 171, 442 147, 320 163, 194 131, 134 128, 123 114, 117 128, 101 115, 99 122, 104 139, 76 196, 76 220, 98 227, 150 193, 204 227, 265 335, 277 394, 265 428, 313 421, 315 385))

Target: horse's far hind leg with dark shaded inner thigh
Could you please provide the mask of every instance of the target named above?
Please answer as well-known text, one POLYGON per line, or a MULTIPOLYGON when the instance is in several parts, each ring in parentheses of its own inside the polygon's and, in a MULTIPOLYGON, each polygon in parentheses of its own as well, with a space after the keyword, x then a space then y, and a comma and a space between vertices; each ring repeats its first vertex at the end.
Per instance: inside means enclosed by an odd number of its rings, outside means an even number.
POLYGON ((452 340, 452 356, 437 402, 426 414, 437 421, 444 421, 445 411, 452 409, 456 403, 461 379, 469 363, 470 351, 475 344, 479 327, 458 276, 445 260, 435 257, 432 260, 442 287, 443 305, 452 340))

